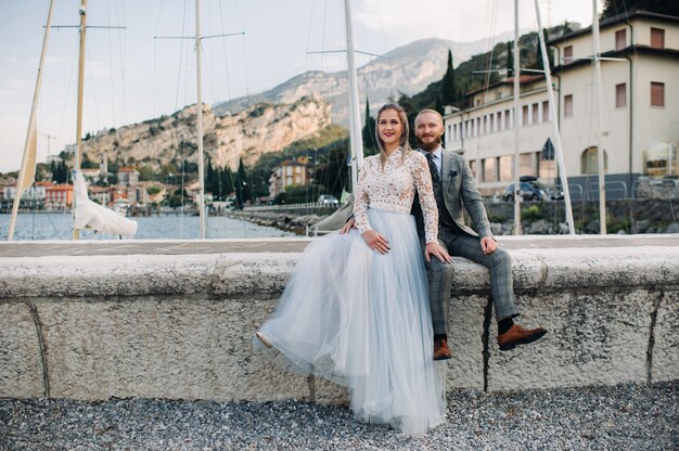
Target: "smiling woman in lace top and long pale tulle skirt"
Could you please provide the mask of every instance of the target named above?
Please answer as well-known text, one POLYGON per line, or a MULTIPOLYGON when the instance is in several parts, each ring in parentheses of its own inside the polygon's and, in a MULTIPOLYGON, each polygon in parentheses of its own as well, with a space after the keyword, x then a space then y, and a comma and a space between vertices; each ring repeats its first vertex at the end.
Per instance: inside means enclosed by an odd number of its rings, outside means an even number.
POLYGON ((346 385, 358 418, 423 434, 445 421, 446 403, 410 215, 415 190, 425 218, 425 258, 448 256, 436 240, 428 166, 408 144, 403 108, 380 108, 375 131, 381 152, 364 159, 355 193, 358 230, 306 248, 254 344, 278 349, 304 373, 313 368, 346 385))

